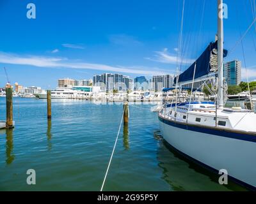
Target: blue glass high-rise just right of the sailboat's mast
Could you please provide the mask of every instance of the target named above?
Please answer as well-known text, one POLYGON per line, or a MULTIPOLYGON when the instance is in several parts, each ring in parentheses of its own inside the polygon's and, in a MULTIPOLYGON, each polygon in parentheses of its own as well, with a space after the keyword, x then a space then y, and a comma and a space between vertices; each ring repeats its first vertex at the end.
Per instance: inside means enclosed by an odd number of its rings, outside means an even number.
POLYGON ((239 85, 241 82, 241 61, 235 60, 224 64, 224 77, 228 85, 239 85))

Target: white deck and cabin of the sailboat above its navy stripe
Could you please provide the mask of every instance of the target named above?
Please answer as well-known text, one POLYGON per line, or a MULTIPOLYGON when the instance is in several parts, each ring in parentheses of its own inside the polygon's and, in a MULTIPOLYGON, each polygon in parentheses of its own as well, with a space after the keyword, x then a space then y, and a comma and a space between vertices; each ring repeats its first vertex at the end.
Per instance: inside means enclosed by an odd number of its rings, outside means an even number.
MULTIPOLYGON (((215 106, 215 105, 214 105, 215 106)), ((159 115, 176 122, 198 126, 218 127, 234 131, 256 133, 256 114, 250 110, 222 108, 217 109, 212 104, 183 104, 163 108, 159 115), (217 122, 216 122, 217 115, 217 122)))

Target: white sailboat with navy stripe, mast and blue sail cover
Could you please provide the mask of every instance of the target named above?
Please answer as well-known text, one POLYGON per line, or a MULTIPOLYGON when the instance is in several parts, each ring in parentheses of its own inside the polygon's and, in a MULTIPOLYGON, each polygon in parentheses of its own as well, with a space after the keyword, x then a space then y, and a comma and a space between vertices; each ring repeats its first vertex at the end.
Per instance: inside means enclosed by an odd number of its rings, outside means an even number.
MULTIPOLYGON (((223 13, 218 0, 218 14, 223 13)), ((218 15, 218 39, 184 73, 176 85, 214 77, 215 102, 165 103, 158 113, 164 140, 180 154, 209 170, 226 170, 229 179, 256 189, 256 114, 240 107, 225 108, 223 78, 223 18, 218 15)))

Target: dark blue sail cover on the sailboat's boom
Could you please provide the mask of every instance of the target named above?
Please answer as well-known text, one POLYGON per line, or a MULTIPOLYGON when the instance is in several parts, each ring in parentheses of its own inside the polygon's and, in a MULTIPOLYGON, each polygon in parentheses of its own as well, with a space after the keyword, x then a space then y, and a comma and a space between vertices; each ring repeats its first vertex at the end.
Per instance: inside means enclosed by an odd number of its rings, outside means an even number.
MULTIPOLYGON (((179 82, 186 82, 189 80, 193 80, 194 75, 194 69, 195 69, 195 63, 196 63, 196 71, 195 71, 195 79, 199 77, 203 77, 204 75, 208 75, 211 71, 211 63, 210 58, 211 55, 217 55, 218 50, 218 41, 215 41, 214 43, 210 43, 208 47, 204 50, 202 55, 193 63, 191 66, 189 66, 186 71, 184 71, 182 74, 179 75, 179 82)), ((223 50, 223 57, 227 56, 228 51, 223 50)), ((176 84, 177 77, 174 78, 174 84, 176 84)))

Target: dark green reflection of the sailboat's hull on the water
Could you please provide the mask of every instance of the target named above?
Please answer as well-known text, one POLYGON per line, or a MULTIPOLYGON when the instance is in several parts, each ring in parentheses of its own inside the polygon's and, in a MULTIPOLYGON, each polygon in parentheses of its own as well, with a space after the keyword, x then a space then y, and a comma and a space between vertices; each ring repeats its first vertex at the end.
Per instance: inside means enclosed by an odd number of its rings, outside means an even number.
POLYGON ((160 131, 154 133, 158 140, 157 161, 163 170, 163 177, 171 191, 246 191, 228 180, 228 185, 218 183, 219 176, 192 163, 181 156, 161 138, 160 131))

